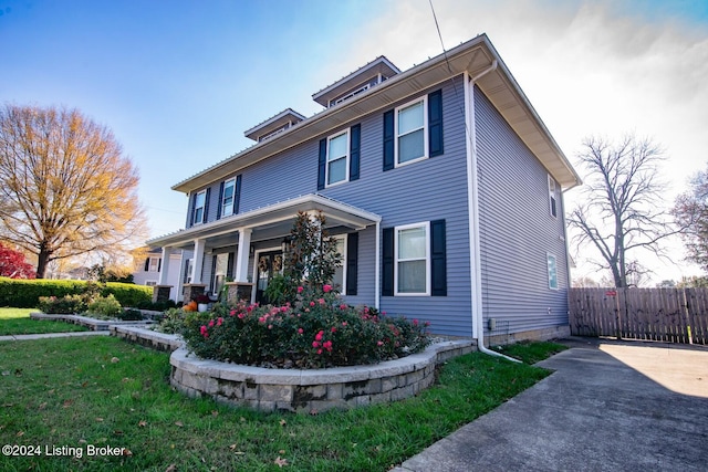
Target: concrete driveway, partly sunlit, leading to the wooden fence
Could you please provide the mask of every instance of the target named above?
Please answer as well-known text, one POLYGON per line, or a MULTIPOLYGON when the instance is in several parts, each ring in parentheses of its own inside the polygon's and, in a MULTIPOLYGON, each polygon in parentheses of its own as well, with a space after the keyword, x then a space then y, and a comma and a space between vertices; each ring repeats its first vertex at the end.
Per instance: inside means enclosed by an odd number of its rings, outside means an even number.
POLYGON ((574 338, 555 373, 395 469, 708 471, 708 348, 574 338))

